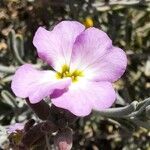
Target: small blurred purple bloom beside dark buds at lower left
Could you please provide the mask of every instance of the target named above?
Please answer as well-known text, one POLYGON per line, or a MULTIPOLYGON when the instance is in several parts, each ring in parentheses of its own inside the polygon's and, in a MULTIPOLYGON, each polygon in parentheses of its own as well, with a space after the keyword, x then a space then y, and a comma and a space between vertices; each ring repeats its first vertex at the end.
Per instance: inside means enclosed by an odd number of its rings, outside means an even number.
POLYGON ((24 124, 22 123, 15 123, 13 125, 10 125, 7 128, 7 133, 11 134, 11 133, 17 133, 17 131, 23 130, 24 129, 24 124))

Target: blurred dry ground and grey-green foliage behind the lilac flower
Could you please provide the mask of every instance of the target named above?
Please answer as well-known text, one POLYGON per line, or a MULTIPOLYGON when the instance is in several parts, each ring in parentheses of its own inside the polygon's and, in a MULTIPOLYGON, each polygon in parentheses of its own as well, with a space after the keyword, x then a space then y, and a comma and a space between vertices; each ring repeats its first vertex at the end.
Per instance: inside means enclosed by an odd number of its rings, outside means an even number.
MULTIPOLYGON (((35 118, 10 89, 18 66, 46 68, 32 44, 39 26, 51 29, 61 20, 94 26, 126 51, 128 67, 114 86, 117 102, 125 106, 150 97, 149 0, 0 0, 0 147, 9 149, 4 128, 35 118)), ((74 150, 150 150, 150 131, 123 119, 100 115, 79 119, 73 126, 74 150)))

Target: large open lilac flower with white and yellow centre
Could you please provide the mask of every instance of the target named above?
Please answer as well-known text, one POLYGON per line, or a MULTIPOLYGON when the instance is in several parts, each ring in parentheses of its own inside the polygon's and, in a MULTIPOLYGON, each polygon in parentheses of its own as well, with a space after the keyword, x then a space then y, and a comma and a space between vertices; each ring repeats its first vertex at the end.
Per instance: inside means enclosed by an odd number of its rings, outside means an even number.
POLYGON ((55 106, 77 116, 114 103, 112 82, 124 73, 127 58, 106 33, 94 27, 85 29, 76 21, 62 21, 52 31, 39 27, 33 44, 54 71, 21 66, 11 85, 16 96, 28 97, 31 103, 50 96, 55 106))

